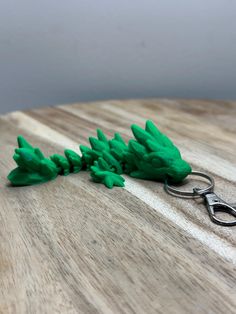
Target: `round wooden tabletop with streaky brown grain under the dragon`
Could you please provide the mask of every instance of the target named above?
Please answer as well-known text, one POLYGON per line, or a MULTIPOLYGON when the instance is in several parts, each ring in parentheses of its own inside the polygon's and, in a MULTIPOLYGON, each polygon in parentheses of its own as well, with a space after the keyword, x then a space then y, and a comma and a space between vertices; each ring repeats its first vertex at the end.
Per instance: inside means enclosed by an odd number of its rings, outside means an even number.
POLYGON ((49 155, 102 128, 131 137, 152 119, 195 170, 236 201, 236 102, 79 103, 0 118, 0 313, 235 313, 236 227, 157 182, 107 189, 88 172, 13 188, 16 136, 49 155))

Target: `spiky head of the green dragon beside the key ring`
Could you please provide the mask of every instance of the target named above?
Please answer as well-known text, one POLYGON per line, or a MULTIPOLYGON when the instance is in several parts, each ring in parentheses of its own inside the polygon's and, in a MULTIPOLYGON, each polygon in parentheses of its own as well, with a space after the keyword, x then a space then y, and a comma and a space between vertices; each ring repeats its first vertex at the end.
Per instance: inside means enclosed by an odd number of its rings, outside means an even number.
POLYGON ((136 140, 129 141, 129 152, 134 155, 131 176, 140 179, 181 182, 190 172, 190 165, 182 159, 178 148, 162 134, 150 120, 143 130, 131 126, 136 140))

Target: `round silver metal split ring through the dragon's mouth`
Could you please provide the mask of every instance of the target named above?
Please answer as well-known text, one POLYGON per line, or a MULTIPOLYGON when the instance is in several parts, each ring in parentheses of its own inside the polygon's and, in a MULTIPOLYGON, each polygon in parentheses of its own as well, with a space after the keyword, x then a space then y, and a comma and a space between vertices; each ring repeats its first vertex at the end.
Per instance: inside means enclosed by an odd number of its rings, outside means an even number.
POLYGON ((173 196, 179 196, 182 198, 198 198, 207 192, 213 191, 214 186, 215 186, 215 182, 211 176, 209 176, 203 172, 199 172, 199 171, 192 171, 189 175, 200 176, 200 177, 207 179, 209 181, 208 187, 206 187, 205 189, 193 188, 192 191, 181 191, 181 190, 178 190, 178 189, 170 186, 168 184, 168 179, 166 179, 165 185, 164 185, 166 192, 173 195, 173 196))

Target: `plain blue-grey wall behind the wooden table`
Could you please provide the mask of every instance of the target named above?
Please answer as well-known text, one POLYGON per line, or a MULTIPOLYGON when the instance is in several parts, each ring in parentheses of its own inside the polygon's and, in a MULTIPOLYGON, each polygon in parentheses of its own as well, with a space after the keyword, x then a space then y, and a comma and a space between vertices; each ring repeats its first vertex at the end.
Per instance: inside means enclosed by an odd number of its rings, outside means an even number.
POLYGON ((236 98, 235 0, 0 0, 0 112, 236 98))

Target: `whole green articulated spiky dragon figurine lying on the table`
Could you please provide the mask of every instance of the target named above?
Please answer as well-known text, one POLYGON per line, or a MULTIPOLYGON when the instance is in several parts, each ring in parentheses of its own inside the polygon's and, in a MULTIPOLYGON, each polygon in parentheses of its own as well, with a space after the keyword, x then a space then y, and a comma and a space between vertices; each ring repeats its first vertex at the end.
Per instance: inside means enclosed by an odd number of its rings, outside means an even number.
POLYGON ((95 182, 112 188, 124 186, 122 173, 154 181, 164 181, 168 177, 173 183, 178 183, 191 172, 178 148, 152 121, 146 122, 145 130, 135 124, 131 129, 135 139, 131 139, 128 145, 119 133, 108 140, 98 129, 97 138, 89 138, 91 148, 80 146, 82 156, 66 149, 65 157, 55 154, 46 158, 39 148, 32 147, 18 136, 19 148, 13 156, 18 167, 10 172, 8 179, 14 186, 33 185, 55 179, 58 175, 90 170, 95 182))

